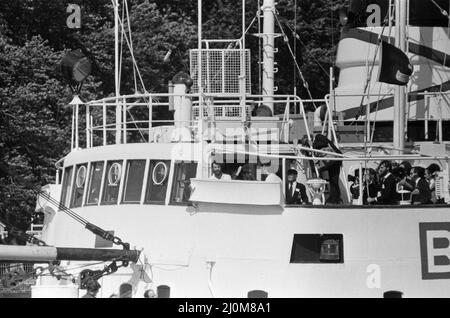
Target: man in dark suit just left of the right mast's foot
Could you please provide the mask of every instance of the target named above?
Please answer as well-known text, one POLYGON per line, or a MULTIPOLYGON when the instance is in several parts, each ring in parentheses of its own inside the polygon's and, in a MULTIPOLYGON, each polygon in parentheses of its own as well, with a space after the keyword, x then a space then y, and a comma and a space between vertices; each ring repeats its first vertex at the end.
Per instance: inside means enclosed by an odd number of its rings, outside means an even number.
MULTIPOLYGON (((382 161, 378 167, 378 177, 381 185, 380 192, 375 199, 378 204, 397 204, 397 181, 391 173, 391 170, 392 164, 389 160, 382 161)), ((368 199, 368 202, 370 203, 371 200, 368 199)))

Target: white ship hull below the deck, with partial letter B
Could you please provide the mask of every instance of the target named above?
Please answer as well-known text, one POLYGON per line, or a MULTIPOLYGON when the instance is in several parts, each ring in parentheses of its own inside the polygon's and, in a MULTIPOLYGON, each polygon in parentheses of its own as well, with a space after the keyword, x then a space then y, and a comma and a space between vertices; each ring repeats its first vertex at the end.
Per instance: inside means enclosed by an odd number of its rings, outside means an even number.
MULTIPOLYGON (((433 261, 433 251, 427 252, 420 238, 420 227, 440 223, 448 239, 448 207, 200 205, 197 213, 187 210, 138 205, 77 210, 114 229, 148 258, 144 268, 151 284, 123 269, 100 280, 101 297, 118 293, 126 282, 134 284, 134 297, 159 285, 168 285, 171 297, 247 297, 251 290, 269 297, 382 297, 388 290, 406 297, 450 297, 447 279, 424 278, 439 272, 449 276, 450 269, 423 267, 424 257, 433 261), (290 262, 295 234, 326 233, 343 235, 343 263, 290 262)), ((62 213, 48 229, 49 244, 94 247, 95 236, 62 213)), ((448 245, 437 253, 449 254, 448 245)))

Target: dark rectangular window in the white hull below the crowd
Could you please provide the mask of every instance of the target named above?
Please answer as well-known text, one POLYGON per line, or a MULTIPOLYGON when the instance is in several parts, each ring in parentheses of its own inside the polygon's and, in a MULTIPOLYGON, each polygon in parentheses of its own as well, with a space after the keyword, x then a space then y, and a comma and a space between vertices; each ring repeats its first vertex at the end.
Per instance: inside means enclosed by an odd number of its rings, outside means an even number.
POLYGON ((342 234, 294 234, 291 263, 343 263, 342 234))

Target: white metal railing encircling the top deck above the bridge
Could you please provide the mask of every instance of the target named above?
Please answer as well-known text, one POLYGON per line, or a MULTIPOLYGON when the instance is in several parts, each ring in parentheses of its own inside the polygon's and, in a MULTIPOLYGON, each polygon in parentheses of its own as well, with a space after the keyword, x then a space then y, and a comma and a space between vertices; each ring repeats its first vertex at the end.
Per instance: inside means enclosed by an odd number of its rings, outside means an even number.
MULTIPOLYGON (((239 94, 204 94, 204 120, 215 125, 220 123, 248 125, 254 109, 263 105, 263 95, 246 96, 245 105, 239 94)), ((271 119, 261 119, 261 123, 277 125, 280 128, 279 141, 288 142, 289 119, 292 109, 300 109, 305 114, 302 100, 293 95, 273 96, 273 105, 280 114, 271 119)), ((193 139, 199 140, 199 95, 198 94, 136 94, 108 97, 85 104, 73 105, 72 149, 106 146, 119 143, 156 142, 161 134, 168 135, 176 127, 186 127, 192 131, 193 139), (162 107, 173 110, 173 99, 189 98, 192 110, 189 119, 153 120, 154 112, 162 107)), ((168 115, 166 113, 166 115, 168 115)), ((305 116, 306 117, 306 116, 305 116)), ((255 122, 258 119, 254 119, 255 122)), ((304 124, 307 126, 305 118, 304 124)), ((308 130, 308 127, 306 127, 308 130)), ((308 133, 309 135, 309 133, 308 133)), ((168 140, 170 138, 162 138, 168 140)))

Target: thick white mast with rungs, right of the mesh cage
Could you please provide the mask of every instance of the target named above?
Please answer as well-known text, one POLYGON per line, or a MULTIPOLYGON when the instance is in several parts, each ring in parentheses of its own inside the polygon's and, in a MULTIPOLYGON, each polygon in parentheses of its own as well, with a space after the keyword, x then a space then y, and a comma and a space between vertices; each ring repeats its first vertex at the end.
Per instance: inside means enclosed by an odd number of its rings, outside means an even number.
POLYGON ((263 23, 263 98, 264 105, 268 106, 273 114, 274 93, 274 65, 275 65, 275 0, 264 0, 263 23), (269 96, 267 96, 269 95, 269 96))

